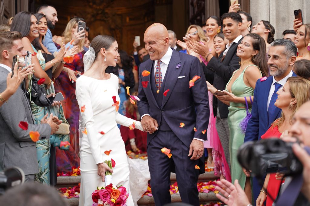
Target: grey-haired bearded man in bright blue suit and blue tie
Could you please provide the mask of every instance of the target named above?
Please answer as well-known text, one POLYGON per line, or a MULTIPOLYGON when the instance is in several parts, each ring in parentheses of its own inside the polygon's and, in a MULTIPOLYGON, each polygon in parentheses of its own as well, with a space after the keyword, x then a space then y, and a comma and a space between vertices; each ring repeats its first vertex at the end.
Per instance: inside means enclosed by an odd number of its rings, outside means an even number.
MULTIPOLYGON (((268 65, 271 77, 257 80, 254 90, 252 117, 248 122, 244 142, 257 141, 270 125, 281 116, 281 109, 274 106, 277 91, 282 89, 289 77, 296 76, 292 66, 296 60, 297 48, 286 39, 272 42, 268 52, 268 65)), ((247 176, 249 172, 245 172, 247 176)), ((253 200, 256 201, 261 185, 253 178, 253 200)))

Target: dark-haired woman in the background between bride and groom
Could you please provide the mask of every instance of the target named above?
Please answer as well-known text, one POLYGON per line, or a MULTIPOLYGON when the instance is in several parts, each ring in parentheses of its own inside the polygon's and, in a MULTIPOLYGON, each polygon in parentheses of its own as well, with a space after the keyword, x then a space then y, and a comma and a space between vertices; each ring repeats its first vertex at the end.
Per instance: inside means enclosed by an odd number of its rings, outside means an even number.
POLYGON ((131 89, 135 86, 135 78, 132 73, 132 59, 124 50, 118 50, 119 57, 117 57, 116 66, 109 66, 106 73, 113 73, 118 77, 118 95, 121 99, 121 105, 118 112, 122 115, 126 113, 126 106, 123 104, 127 99, 126 87, 131 89))

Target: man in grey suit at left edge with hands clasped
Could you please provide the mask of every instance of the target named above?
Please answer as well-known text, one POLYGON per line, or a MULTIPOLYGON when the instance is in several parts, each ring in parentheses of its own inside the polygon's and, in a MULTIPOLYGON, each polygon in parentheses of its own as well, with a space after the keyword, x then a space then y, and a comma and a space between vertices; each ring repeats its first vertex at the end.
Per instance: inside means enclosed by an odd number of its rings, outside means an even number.
MULTIPOLYGON (((25 54, 21 38, 20 32, 0 32, 0 92, 7 87, 13 57, 25 54)), ((51 114, 48 119, 46 115, 41 124, 33 124, 31 108, 21 88, 7 101, 0 99, 6 102, 0 107, 0 170, 17 166, 24 171, 25 181, 33 181, 34 174, 38 173, 38 160, 36 143, 29 132, 38 131, 40 139, 50 138, 59 128, 56 123, 60 122, 51 114), (27 130, 18 126, 20 121, 28 123, 27 130)))

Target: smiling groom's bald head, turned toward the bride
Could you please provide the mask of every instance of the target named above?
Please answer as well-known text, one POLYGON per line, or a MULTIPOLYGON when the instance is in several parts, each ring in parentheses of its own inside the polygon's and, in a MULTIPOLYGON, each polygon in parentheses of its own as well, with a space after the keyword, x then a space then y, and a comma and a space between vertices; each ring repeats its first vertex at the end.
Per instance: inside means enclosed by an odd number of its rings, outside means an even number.
POLYGON ((153 23, 144 32, 145 49, 151 60, 161 59, 169 48, 169 34, 161 23, 153 23))

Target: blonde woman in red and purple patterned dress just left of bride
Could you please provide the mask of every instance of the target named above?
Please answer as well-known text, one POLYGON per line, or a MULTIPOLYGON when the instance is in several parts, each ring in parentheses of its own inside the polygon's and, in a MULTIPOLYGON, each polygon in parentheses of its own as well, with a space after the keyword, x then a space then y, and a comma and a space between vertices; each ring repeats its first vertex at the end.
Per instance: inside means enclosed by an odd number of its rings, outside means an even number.
MULTIPOLYGON (((78 22, 81 19, 73 18, 71 19, 63 33, 63 36, 57 38, 57 42, 60 44, 67 44, 73 39, 73 34, 78 30, 78 22)), ((55 79, 55 92, 62 92, 64 96, 63 107, 64 115, 67 118, 71 131, 70 131, 70 143, 73 149, 78 153, 78 126, 79 126, 79 108, 78 102, 75 96, 75 81, 77 77, 84 73, 83 57, 85 51, 83 49, 85 38, 77 42, 78 50, 77 54, 70 58, 66 58, 67 63, 64 64, 63 71, 60 73, 57 79, 55 79)))

